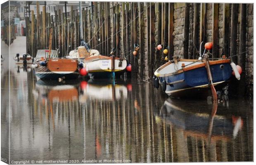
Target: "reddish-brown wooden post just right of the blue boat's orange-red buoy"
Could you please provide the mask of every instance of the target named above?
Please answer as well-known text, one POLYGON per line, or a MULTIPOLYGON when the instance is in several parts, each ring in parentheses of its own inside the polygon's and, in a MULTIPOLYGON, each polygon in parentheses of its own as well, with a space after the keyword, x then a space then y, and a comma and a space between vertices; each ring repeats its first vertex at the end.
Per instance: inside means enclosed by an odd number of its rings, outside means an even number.
POLYGON ((212 58, 221 57, 218 55, 218 11, 219 11, 219 4, 213 3, 212 4, 212 42, 213 42, 213 48, 212 48, 212 58))

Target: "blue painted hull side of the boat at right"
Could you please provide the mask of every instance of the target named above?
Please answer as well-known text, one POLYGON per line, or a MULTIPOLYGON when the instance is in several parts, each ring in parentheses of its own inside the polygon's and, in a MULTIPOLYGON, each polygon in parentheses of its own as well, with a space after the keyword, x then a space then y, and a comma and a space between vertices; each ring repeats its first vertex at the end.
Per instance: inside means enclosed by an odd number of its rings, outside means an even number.
MULTIPOLYGON (((211 65, 211 74, 213 83, 223 82, 231 77, 232 68, 229 63, 211 65), (223 68, 220 68, 223 65, 223 68)), ((166 85, 166 93, 168 95, 178 97, 180 92, 191 90, 193 88, 207 87, 209 84, 208 75, 205 67, 195 68, 189 71, 170 75, 168 77, 159 77, 160 84, 163 80, 167 83, 177 82, 171 85, 166 85)))

